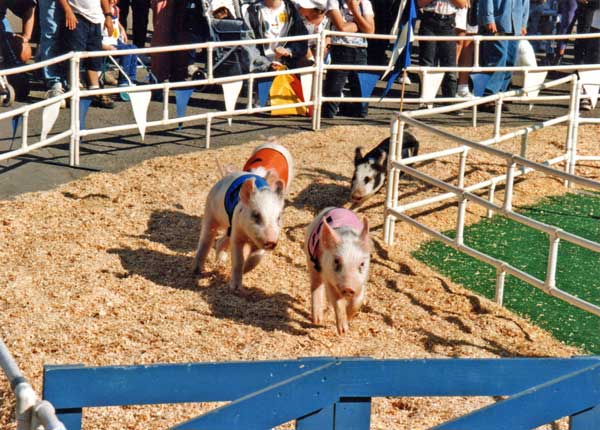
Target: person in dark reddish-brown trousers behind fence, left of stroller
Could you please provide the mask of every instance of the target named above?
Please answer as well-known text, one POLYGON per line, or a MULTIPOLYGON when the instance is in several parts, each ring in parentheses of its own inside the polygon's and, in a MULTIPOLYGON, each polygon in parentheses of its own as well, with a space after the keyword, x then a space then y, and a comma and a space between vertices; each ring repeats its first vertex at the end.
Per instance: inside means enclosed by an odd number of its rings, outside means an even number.
MULTIPOLYGON (((154 32, 152 33, 151 46, 171 45, 173 37, 173 17, 175 0, 152 0, 152 19, 154 32)), ((152 54, 152 72, 158 82, 164 82, 171 77, 171 54, 152 54)))

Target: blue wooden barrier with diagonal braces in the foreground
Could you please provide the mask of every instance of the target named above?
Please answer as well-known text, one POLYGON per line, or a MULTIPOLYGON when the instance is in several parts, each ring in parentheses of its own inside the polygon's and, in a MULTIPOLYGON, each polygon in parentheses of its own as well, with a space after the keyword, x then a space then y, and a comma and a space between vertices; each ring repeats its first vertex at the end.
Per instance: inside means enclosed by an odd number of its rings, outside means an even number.
POLYGON ((47 366, 44 399, 67 429, 83 408, 230 401, 176 430, 366 430, 372 397, 508 396, 437 430, 531 429, 565 416, 571 430, 600 429, 600 357, 570 359, 284 361, 47 366))

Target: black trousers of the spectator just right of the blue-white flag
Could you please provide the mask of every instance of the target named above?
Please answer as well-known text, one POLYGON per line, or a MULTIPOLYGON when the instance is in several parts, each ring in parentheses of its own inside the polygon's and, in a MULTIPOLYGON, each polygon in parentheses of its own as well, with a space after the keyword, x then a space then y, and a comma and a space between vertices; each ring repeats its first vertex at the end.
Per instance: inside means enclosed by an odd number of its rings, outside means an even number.
MULTIPOLYGON (((419 35, 456 36, 454 22, 454 15, 441 16, 424 12, 419 35)), ((430 67, 456 67, 456 42, 420 42, 419 64, 430 67)), ((456 72, 446 72, 442 81, 442 96, 455 97, 457 85, 456 72)))

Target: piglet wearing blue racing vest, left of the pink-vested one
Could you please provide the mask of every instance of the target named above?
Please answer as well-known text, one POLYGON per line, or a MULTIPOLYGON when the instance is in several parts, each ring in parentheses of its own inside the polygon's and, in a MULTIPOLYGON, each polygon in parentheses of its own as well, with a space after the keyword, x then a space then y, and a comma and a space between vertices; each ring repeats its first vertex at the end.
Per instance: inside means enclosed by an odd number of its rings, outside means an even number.
MULTIPOLYGON (((202 273, 215 237, 219 230, 226 230, 229 240, 224 242, 231 247, 230 285, 243 292, 242 274, 254 269, 265 250, 277 244, 283 193, 281 179, 268 183, 258 175, 234 172, 219 180, 206 199, 194 273, 202 273)), ((224 250, 217 247, 216 251, 219 255, 224 250)))

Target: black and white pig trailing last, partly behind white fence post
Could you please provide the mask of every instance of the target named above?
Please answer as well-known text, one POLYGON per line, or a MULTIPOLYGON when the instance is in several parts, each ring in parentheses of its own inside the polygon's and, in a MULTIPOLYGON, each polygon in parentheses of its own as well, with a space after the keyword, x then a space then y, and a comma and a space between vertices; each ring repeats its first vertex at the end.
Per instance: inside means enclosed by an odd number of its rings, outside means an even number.
MULTIPOLYGON (((362 155, 359 146, 354 150, 354 174, 350 198, 362 203, 375 194, 385 183, 387 176, 387 158, 390 152, 390 138, 379 143, 367 155, 362 155)), ((408 131, 404 132, 402 158, 414 157, 419 153, 419 141, 408 131)))

